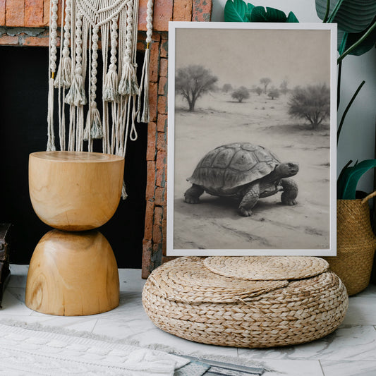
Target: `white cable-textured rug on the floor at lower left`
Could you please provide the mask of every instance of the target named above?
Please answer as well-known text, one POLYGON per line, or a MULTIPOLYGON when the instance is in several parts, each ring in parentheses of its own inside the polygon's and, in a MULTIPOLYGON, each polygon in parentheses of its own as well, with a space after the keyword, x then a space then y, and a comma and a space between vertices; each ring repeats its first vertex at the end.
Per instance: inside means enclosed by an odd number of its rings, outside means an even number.
POLYGON ((163 351, 94 336, 4 324, 0 324, 0 354, 0 375, 6 376, 173 376, 190 362, 163 351))

